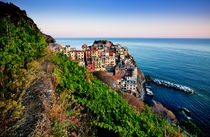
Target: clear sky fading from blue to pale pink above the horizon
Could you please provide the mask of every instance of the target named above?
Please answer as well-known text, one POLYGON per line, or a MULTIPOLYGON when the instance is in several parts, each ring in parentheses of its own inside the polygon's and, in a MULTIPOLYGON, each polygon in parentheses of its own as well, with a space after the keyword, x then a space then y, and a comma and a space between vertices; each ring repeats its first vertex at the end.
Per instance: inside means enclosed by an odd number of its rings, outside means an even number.
POLYGON ((210 38, 210 0, 2 0, 53 37, 210 38))

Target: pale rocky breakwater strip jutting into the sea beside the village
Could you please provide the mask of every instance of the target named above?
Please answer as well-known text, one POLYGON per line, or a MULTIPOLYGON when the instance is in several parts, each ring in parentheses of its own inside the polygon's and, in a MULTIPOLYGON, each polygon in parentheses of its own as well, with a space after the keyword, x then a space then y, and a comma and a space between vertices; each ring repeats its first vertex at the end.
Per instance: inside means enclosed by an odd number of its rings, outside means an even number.
POLYGON ((175 84, 175 83, 165 81, 165 80, 160 80, 160 79, 151 79, 151 81, 157 85, 160 85, 160 86, 164 86, 167 88, 173 88, 176 90, 183 91, 185 93, 195 94, 195 91, 193 89, 191 89, 187 86, 184 86, 184 85, 175 84))

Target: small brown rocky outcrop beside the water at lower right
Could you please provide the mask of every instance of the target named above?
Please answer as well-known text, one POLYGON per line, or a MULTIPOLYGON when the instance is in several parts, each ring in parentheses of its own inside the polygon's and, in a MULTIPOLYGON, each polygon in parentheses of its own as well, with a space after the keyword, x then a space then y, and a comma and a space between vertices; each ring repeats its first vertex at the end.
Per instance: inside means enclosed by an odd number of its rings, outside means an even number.
POLYGON ((152 107, 152 112, 160 115, 161 117, 169 120, 170 122, 177 122, 177 118, 174 115, 174 113, 161 104, 154 104, 154 106, 152 107))

